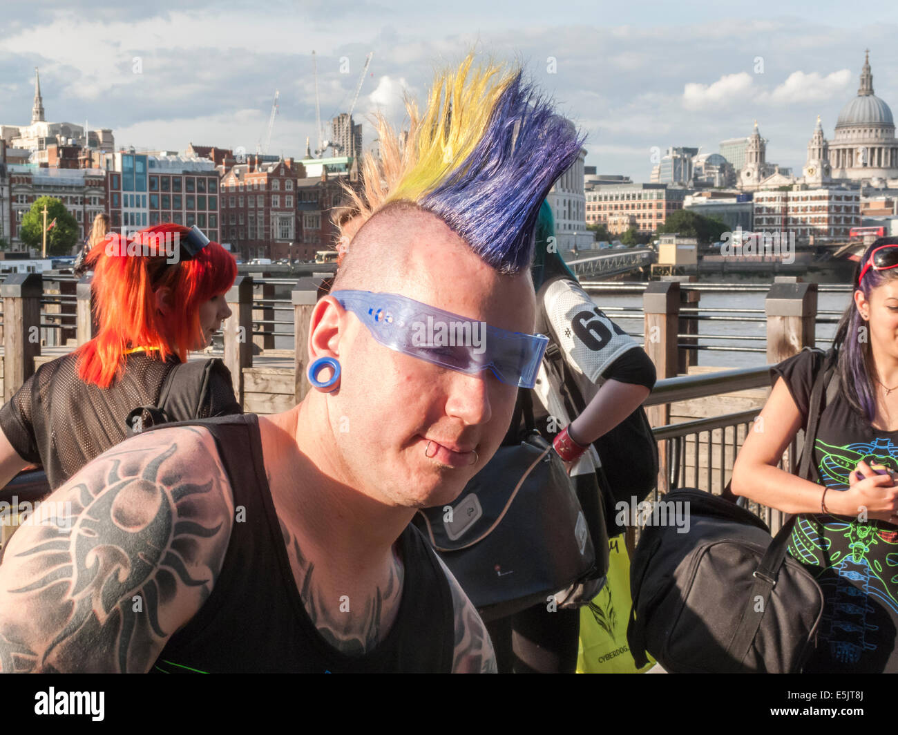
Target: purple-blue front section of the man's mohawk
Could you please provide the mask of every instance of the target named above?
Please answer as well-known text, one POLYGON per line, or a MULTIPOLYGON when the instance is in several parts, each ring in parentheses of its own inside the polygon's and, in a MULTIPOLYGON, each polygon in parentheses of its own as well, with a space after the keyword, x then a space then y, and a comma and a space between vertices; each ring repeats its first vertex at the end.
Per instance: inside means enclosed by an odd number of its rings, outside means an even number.
POLYGON ((530 268, 543 199, 577 161, 585 137, 518 73, 471 154, 420 204, 499 272, 530 268))

